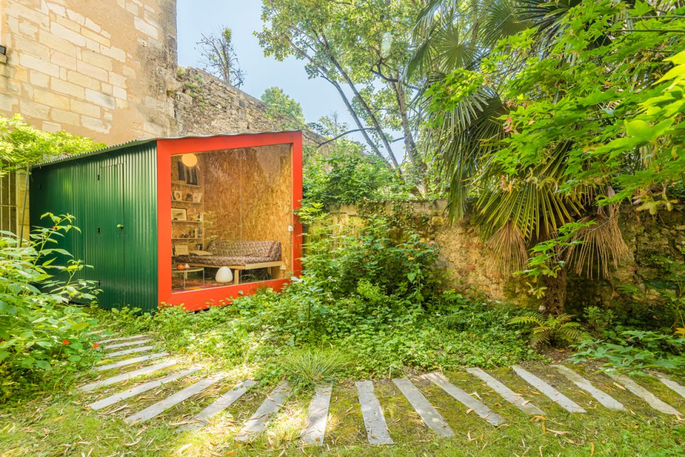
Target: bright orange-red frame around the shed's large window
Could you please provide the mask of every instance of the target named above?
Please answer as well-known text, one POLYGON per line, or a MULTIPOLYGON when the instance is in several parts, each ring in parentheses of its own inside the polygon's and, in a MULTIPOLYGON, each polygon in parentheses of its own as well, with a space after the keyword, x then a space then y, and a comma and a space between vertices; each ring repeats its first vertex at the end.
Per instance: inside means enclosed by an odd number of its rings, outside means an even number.
MULTIPOLYGON (((157 268, 158 302, 160 306, 182 305, 188 311, 229 304, 240 295, 254 294, 261 287, 280 290, 288 279, 230 284, 210 289, 171 292, 171 156, 201 153, 208 150, 255 148, 258 146, 290 144, 293 170, 293 211, 302 200, 302 132, 246 133, 203 138, 176 138, 157 141, 157 268), (164 304, 164 305, 163 305, 164 304)), ((302 224, 293 214, 292 242, 293 275, 302 273, 302 224)))

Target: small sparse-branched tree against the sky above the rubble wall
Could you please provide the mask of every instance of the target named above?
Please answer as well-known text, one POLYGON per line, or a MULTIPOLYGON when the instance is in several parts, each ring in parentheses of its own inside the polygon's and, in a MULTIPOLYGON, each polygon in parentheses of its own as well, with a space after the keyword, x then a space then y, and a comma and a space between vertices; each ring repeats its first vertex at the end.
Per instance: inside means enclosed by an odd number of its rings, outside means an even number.
POLYGON ((240 69, 232 39, 233 32, 223 27, 218 32, 201 34, 197 44, 205 71, 231 86, 240 87, 245 82, 245 72, 240 69))

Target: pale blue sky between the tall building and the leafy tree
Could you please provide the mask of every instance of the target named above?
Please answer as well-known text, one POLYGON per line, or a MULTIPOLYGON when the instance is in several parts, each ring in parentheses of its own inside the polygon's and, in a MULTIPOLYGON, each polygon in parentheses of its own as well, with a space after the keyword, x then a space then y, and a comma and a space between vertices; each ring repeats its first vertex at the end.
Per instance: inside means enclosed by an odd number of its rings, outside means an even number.
POLYGON ((243 91, 260 98, 265 88, 278 86, 302 105, 308 122, 337 111, 351 125, 335 88, 323 79, 308 79, 303 61, 279 62, 264 56, 253 35, 262 28, 261 5, 259 0, 178 0, 178 63, 199 66, 196 43, 200 35, 228 26, 240 66, 247 73, 243 91))

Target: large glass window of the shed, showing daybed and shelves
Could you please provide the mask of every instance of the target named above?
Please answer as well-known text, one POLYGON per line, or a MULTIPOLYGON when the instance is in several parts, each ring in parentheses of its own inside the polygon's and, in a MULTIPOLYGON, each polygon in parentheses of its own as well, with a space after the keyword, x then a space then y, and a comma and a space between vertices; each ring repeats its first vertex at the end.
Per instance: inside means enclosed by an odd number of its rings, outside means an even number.
POLYGON ((289 277, 291 145, 174 155, 173 292, 289 277))

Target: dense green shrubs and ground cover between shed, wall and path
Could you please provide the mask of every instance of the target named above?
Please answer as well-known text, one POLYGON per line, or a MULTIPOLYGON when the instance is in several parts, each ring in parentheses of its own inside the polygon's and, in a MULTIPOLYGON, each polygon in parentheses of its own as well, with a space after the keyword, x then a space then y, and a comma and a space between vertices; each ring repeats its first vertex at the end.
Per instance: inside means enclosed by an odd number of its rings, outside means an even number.
POLYGON ((264 381, 293 372, 293 381, 307 384, 325 370, 392 376, 537 357, 518 330, 507 329, 514 309, 440 292, 435 245, 380 218, 341 230, 322 225, 315 205, 301 217, 313 227, 305 273, 283 292, 260 290, 197 314, 171 307, 155 317, 109 316, 127 332, 158 332, 166 347, 188 356, 253 366, 264 381))

